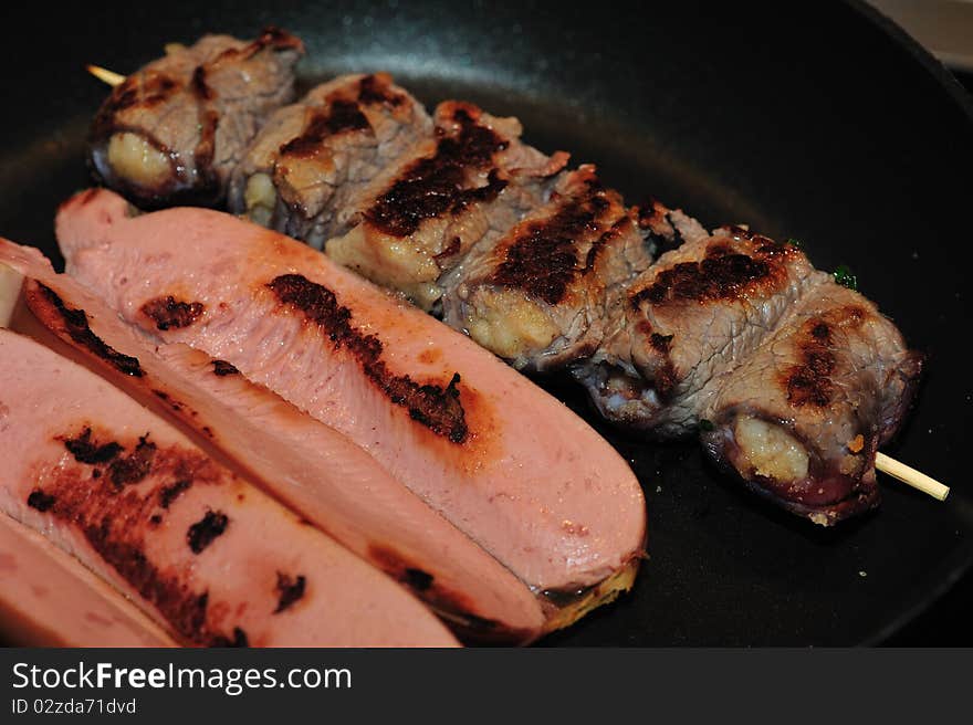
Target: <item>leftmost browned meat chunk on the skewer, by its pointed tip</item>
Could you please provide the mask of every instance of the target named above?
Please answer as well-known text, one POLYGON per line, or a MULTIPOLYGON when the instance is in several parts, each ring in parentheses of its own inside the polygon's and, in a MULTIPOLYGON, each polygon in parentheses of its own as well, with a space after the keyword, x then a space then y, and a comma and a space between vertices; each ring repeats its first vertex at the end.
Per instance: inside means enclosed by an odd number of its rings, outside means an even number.
POLYGON ((301 41, 268 29, 205 35, 129 75, 91 129, 96 176, 149 207, 222 201, 230 172, 271 111, 293 96, 301 41))

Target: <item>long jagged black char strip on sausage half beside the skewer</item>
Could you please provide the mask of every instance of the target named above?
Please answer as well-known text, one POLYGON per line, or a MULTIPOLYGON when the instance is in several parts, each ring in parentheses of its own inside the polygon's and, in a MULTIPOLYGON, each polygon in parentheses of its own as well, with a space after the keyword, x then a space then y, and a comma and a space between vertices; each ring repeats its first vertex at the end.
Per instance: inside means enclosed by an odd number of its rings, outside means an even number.
POLYGON ((300 312, 306 321, 316 324, 336 348, 344 348, 354 356, 365 376, 391 402, 408 410, 412 420, 453 443, 467 441, 470 431, 460 400, 459 374, 454 374, 446 387, 420 385, 408 375, 393 375, 381 357, 381 340, 352 325, 352 311, 339 305, 331 290, 300 274, 281 275, 266 286, 285 308, 300 312))

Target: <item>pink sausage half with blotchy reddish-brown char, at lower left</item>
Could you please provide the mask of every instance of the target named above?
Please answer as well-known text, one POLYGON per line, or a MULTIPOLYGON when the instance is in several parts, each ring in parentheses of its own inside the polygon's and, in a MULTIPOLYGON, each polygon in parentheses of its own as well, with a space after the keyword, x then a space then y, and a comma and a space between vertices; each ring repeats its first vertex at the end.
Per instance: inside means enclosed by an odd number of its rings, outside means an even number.
POLYGON ((397 584, 168 423, 0 329, 0 509, 44 533, 186 644, 452 645, 397 584), (281 610, 280 576, 304 577, 281 610))

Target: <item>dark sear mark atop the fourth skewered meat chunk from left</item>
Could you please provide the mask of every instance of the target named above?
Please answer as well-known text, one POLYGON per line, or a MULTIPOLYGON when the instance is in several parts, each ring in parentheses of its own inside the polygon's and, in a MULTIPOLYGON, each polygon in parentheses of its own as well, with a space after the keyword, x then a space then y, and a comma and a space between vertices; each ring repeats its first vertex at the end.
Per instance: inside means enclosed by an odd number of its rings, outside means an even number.
MULTIPOLYGON (((522 290, 556 305, 580 271, 578 242, 586 234, 600 231, 598 218, 609 206, 605 192, 592 183, 586 193, 568 199, 547 219, 527 223, 506 249, 505 259, 489 282, 522 290)), ((589 252, 592 264, 597 255, 596 245, 597 242, 589 252)))

